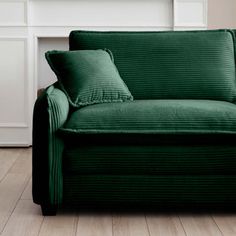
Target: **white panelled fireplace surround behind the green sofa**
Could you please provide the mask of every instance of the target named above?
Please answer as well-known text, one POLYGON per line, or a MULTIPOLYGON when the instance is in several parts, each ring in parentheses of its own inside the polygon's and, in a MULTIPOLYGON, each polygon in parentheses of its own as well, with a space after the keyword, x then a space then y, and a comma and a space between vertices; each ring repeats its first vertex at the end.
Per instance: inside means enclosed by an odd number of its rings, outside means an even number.
POLYGON ((44 53, 71 30, 207 28, 207 0, 0 0, 0 146, 32 144, 37 90, 55 81, 44 53))

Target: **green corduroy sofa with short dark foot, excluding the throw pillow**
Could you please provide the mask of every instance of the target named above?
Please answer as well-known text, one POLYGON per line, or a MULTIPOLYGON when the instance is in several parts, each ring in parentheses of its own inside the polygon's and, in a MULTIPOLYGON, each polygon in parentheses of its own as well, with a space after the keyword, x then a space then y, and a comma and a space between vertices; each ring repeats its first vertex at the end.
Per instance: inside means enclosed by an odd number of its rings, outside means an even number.
POLYGON ((33 116, 33 200, 57 206, 236 206, 232 30, 73 31, 109 49, 133 101, 75 108, 58 83, 33 116))

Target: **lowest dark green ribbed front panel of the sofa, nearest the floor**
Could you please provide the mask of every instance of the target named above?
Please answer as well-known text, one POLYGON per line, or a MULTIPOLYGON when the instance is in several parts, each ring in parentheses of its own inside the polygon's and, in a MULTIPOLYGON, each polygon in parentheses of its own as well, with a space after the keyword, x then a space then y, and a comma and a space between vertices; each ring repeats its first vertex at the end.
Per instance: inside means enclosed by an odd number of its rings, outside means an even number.
POLYGON ((236 177, 232 175, 69 175, 64 182, 64 201, 69 204, 236 206, 236 177))

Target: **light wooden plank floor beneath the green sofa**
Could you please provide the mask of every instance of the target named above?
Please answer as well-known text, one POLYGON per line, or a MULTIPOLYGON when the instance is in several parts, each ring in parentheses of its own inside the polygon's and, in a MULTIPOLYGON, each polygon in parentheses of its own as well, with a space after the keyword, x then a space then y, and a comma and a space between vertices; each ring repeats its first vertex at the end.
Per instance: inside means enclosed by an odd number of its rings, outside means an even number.
POLYGON ((79 213, 43 217, 32 202, 31 149, 0 149, 1 236, 236 235, 235 214, 79 213))

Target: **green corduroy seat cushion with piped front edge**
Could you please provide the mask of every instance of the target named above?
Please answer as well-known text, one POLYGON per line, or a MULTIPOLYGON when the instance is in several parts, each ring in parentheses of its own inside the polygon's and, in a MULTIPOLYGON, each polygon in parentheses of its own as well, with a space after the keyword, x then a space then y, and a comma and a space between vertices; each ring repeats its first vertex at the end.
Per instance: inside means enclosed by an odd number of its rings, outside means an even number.
POLYGON ((214 100, 136 100, 74 111, 63 134, 234 134, 236 105, 214 100))

